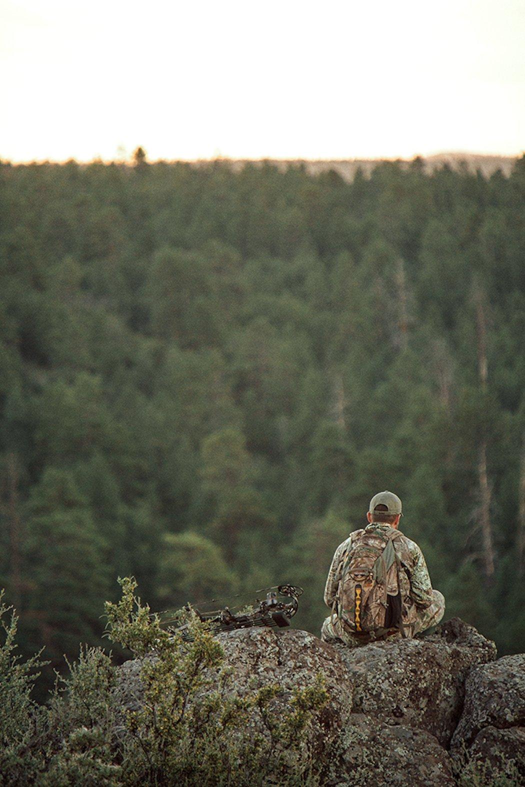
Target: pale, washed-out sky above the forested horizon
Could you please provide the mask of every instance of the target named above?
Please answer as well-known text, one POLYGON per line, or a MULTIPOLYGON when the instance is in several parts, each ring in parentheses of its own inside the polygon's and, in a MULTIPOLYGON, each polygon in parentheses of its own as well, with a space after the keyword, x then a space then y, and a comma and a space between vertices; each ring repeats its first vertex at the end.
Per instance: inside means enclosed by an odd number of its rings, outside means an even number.
POLYGON ((0 0, 0 158, 525 149, 525 0, 0 0))

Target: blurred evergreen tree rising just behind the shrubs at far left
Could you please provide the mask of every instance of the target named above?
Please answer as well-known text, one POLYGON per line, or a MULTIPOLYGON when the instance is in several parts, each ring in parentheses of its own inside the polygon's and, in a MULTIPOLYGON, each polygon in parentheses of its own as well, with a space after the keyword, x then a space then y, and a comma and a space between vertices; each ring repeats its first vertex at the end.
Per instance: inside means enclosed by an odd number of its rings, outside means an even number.
POLYGON ((76 656, 79 641, 102 634, 100 599, 108 593, 104 541, 72 474, 46 467, 25 513, 21 621, 31 645, 46 646, 54 667, 76 656))

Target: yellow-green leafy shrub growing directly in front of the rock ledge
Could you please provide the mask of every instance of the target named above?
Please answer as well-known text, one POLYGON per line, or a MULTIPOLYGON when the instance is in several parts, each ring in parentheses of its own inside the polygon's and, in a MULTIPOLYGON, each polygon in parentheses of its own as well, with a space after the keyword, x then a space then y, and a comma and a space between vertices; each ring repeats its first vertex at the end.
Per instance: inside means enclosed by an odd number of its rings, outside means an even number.
POLYGON ((312 782, 305 732, 327 700, 322 679, 296 691, 282 717, 270 711, 271 700, 282 693, 277 685, 232 696, 232 672, 224 669, 224 652, 208 626, 188 612, 190 641, 184 641, 142 606, 133 580, 121 584, 120 602, 106 604, 108 633, 140 660, 143 687, 139 710, 126 713, 126 783, 312 782), (257 713, 262 732, 253 724, 257 713))

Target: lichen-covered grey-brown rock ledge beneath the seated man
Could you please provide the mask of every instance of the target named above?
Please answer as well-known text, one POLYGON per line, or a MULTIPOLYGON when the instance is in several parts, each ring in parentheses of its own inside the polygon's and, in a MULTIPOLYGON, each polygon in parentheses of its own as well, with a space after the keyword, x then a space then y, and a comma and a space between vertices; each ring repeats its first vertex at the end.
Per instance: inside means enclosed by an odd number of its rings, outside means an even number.
MULTIPOLYGON (((219 638, 235 693, 279 683, 277 711, 324 674, 330 700, 310 734, 331 763, 327 785, 525 784, 525 656, 496 660, 494 642, 460 619, 356 649, 290 629, 219 638)), ((124 664, 121 696, 136 698, 138 681, 124 664)))

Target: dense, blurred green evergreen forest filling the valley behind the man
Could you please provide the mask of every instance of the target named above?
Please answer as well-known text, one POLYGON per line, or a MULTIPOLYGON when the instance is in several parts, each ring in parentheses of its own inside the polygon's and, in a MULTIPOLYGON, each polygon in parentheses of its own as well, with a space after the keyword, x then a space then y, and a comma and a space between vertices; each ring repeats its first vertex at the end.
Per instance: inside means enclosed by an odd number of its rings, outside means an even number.
POLYGON ((159 610, 301 585, 318 632, 383 489, 446 618, 525 651, 525 158, 474 161, 0 164, 24 653, 97 644, 119 575, 159 610))

